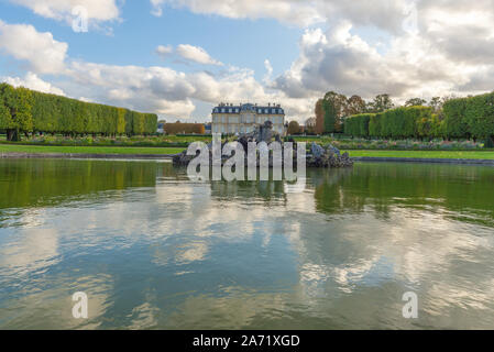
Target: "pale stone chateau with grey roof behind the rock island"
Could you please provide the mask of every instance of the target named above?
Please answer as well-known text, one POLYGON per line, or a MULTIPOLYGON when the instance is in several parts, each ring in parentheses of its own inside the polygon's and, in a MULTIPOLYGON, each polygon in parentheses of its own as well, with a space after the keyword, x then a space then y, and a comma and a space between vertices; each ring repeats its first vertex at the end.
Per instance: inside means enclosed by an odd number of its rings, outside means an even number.
POLYGON ((273 123, 274 132, 285 135, 285 111, 279 105, 262 107, 256 103, 220 103, 212 109, 212 133, 249 133, 266 121, 273 123))

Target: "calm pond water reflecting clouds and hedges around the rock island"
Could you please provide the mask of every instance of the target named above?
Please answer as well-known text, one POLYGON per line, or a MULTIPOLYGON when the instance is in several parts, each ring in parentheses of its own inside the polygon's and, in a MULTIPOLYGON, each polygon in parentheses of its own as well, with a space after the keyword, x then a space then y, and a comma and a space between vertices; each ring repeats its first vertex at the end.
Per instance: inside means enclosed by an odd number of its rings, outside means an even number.
POLYGON ((0 161, 0 329, 35 328, 494 329, 494 168, 356 164, 288 194, 169 163, 0 161))

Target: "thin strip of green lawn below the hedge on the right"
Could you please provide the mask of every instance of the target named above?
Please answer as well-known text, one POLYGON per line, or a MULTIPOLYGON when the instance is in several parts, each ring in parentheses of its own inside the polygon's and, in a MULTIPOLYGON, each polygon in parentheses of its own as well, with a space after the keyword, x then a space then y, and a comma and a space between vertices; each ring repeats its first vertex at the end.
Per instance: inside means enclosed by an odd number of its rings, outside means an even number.
POLYGON ((421 157, 494 160, 494 151, 347 151, 352 157, 421 157))

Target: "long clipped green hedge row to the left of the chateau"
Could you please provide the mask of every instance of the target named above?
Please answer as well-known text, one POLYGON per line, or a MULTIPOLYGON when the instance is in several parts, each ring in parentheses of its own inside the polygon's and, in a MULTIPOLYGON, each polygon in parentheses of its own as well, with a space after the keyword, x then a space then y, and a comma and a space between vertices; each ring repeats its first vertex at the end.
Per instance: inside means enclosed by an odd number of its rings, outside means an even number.
POLYGON ((157 116, 154 113, 0 84, 0 131, 6 131, 8 141, 18 141, 22 133, 29 135, 34 132, 145 135, 155 133, 156 128, 157 116))

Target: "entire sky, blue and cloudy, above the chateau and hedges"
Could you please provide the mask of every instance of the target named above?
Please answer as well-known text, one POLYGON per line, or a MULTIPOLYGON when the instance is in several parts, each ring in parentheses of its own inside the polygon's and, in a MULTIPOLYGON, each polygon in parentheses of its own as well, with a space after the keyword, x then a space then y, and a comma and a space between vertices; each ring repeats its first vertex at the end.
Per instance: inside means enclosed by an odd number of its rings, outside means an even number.
POLYGON ((314 116, 494 90, 494 0, 0 0, 0 80, 207 122, 219 102, 314 116))

